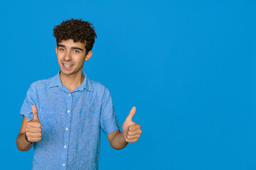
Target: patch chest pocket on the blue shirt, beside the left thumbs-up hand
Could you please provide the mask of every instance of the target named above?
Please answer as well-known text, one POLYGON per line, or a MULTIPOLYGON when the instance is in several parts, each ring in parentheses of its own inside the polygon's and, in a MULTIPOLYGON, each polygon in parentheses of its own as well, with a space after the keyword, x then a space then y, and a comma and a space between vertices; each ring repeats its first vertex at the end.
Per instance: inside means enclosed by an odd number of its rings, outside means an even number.
POLYGON ((42 129, 54 129, 58 122, 58 110, 56 108, 39 108, 39 121, 42 129))

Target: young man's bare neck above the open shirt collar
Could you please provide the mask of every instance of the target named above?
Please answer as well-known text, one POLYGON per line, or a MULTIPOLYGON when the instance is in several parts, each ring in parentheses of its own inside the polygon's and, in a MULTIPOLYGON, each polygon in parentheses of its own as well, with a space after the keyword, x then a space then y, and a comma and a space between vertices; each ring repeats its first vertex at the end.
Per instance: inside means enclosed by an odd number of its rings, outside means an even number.
POLYGON ((84 81, 85 77, 82 76, 82 72, 79 74, 72 74, 72 75, 65 75, 60 71, 60 81, 61 83, 68 88, 68 91, 70 93, 77 89, 78 86, 82 84, 84 81))

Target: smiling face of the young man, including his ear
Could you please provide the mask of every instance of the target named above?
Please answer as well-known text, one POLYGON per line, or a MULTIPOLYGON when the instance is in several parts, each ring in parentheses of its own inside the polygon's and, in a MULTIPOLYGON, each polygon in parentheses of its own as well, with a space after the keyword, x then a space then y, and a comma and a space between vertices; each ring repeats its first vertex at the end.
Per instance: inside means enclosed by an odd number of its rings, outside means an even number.
POLYGON ((58 43, 55 50, 62 74, 74 76, 82 74, 84 62, 92 56, 92 51, 85 55, 85 43, 73 42, 72 39, 62 40, 58 43))

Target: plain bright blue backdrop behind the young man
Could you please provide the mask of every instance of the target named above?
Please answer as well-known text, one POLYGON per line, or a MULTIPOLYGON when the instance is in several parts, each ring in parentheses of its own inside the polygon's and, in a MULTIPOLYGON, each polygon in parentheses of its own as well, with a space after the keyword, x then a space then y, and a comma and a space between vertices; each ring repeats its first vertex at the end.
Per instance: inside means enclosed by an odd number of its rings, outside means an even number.
MULTIPOLYGON (((119 122, 132 106, 142 137, 100 169, 256 169, 256 2, 1 1, 0 169, 31 169, 19 111, 33 81, 59 71, 53 26, 91 21, 84 72, 109 87, 119 122)), ((102 133, 103 134, 103 133, 102 133)))

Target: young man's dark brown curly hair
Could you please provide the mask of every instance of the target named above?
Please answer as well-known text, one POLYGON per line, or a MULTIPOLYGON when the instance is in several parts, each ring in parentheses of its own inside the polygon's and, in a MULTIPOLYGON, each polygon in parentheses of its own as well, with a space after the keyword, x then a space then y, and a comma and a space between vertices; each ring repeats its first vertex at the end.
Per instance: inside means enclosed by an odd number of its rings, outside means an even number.
POLYGON ((86 42, 86 53, 92 50, 97 35, 92 23, 82 19, 63 21, 60 25, 53 28, 53 36, 56 38, 57 45, 61 40, 73 39, 74 42, 86 42))

